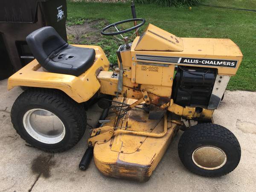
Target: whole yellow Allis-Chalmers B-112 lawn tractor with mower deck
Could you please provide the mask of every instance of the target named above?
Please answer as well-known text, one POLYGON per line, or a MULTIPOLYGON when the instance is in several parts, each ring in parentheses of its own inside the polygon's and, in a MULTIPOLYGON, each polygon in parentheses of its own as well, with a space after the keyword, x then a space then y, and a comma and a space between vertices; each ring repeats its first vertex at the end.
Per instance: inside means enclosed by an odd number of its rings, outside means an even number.
POLYGON ((121 35, 125 42, 115 65, 101 47, 69 45, 52 27, 29 34, 35 60, 8 80, 9 90, 28 88, 12 106, 17 133, 36 148, 66 151, 83 136, 85 105, 96 99, 104 111, 90 131, 80 169, 94 157, 103 175, 146 181, 181 129, 178 154, 187 169, 207 177, 233 171, 239 142, 213 124, 212 114, 239 68, 239 47, 230 39, 179 38, 152 24, 139 36, 143 24, 134 17, 102 29, 102 35, 121 35), (130 22, 134 26, 120 29, 130 22), (122 34, 133 30, 131 43, 122 34))

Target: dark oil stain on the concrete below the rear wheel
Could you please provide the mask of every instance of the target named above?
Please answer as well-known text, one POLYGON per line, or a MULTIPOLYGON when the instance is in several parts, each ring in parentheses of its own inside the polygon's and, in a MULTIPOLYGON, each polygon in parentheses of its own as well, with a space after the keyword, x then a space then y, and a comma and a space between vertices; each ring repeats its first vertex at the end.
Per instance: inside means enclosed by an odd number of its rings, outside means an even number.
POLYGON ((32 161, 31 169, 35 174, 50 177, 51 169, 56 162, 52 159, 52 155, 39 155, 32 161))

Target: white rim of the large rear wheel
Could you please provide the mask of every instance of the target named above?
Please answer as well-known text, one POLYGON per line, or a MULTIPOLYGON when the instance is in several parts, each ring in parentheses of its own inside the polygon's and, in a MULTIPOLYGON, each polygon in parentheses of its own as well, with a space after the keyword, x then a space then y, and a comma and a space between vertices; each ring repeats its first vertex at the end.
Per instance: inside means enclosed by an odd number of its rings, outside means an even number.
POLYGON ((30 109, 23 116, 26 132, 41 143, 59 143, 65 137, 65 126, 54 113, 45 109, 30 109))

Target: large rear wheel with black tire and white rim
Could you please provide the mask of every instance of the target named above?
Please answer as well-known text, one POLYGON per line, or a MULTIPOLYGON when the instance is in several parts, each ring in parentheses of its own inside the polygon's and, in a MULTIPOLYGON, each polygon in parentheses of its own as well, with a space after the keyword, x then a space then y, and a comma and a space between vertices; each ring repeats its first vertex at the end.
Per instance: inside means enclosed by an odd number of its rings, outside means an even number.
POLYGON ((86 128, 83 105, 55 89, 29 88, 12 106, 14 128, 30 145, 61 152, 79 142, 86 128))

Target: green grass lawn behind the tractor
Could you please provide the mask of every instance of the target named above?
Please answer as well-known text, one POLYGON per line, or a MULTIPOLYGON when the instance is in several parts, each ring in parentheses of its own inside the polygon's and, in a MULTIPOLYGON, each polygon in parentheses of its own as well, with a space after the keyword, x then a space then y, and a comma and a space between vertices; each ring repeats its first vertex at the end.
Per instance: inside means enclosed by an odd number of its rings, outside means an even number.
MULTIPOLYGON (((209 0, 205 4, 256 9, 256 0, 209 0)), ((131 18, 129 4, 68 2, 68 23, 103 18, 113 23, 131 18)), ((244 55, 236 76, 230 79, 229 90, 256 90, 256 12, 212 8, 206 6, 161 7, 136 5, 137 17, 179 37, 230 38, 244 55)), ((146 24, 147 24, 146 23, 146 24)), ((144 25, 145 27, 146 25, 144 25)), ((116 41, 106 38, 97 44, 116 61, 116 41), (113 47, 112 47, 113 46, 113 47)))

